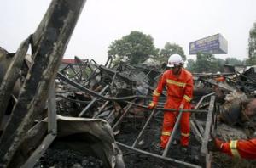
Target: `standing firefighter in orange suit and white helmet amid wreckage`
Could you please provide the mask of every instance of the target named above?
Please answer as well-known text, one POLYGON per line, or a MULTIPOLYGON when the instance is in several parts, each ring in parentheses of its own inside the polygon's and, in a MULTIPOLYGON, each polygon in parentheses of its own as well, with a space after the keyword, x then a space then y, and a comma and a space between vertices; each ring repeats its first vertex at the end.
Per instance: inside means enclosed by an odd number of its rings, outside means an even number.
MULTIPOLYGON (((193 92, 193 77, 188 70, 183 69, 183 59, 178 54, 173 54, 168 59, 166 70, 160 77, 158 86, 153 93, 153 101, 148 105, 148 109, 154 109, 158 103, 158 98, 164 87, 167 89, 165 109, 177 109, 177 112, 164 112, 164 120, 160 138, 161 148, 166 148, 166 144, 172 134, 172 129, 178 115, 178 109, 191 109, 190 101, 193 92)), ((181 145, 186 151, 189 145, 189 112, 183 112, 181 117, 181 145)))

